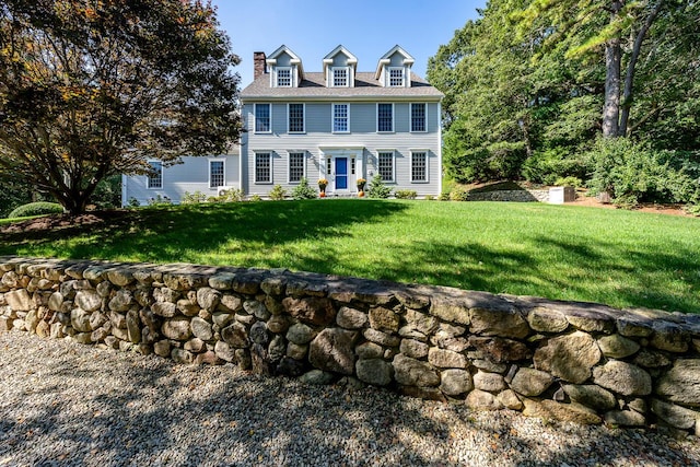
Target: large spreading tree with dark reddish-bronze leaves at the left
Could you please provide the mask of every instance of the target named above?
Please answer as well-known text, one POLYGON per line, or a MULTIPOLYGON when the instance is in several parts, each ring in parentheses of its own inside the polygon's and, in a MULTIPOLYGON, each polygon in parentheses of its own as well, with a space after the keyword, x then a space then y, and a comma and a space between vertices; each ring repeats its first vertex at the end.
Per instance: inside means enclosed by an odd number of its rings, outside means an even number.
POLYGON ((149 159, 223 153, 241 127, 238 61, 207 2, 4 1, 0 178, 78 213, 113 206, 101 180, 149 159))

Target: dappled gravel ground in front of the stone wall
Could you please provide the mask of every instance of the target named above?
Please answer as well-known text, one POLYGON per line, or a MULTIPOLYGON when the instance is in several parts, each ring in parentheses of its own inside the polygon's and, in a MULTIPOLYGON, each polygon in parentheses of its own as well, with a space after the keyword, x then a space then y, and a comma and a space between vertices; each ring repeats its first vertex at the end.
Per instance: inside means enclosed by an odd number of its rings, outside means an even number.
POLYGON ((0 466, 54 465, 700 466, 700 443, 0 332, 0 466))

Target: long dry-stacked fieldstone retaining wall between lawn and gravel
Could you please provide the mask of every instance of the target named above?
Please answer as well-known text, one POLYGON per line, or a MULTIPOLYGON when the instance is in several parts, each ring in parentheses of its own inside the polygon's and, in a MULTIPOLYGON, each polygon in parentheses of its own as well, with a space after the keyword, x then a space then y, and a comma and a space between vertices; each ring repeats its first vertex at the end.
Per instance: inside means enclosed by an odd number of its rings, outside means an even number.
POLYGON ((0 329, 700 432, 700 316, 285 270, 0 257, 0 329))

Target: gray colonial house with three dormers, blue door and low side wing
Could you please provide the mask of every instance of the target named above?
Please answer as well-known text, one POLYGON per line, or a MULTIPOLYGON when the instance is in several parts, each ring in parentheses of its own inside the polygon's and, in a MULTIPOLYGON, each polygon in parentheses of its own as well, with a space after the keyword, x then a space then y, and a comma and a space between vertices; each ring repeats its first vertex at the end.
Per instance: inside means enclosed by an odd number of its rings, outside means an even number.
POLYGON ((322 72, 305 72, 287 46, 255 52, 255 79, 241 93, 240 148, 171 167, 150 161, 150 176, 124 177, 122 203, 159 196, 179 202, 186 191, 209 197, 229 188, 265 198, 276 185, 290 191, 302 178, 314 187, 325 178, 329 196, 352 196, 359 178, 376 174, 395 190, 439 195, 443 94, 412 65, 399 46, 372 72, 358 71, 343 46, 324 57, 322 72))

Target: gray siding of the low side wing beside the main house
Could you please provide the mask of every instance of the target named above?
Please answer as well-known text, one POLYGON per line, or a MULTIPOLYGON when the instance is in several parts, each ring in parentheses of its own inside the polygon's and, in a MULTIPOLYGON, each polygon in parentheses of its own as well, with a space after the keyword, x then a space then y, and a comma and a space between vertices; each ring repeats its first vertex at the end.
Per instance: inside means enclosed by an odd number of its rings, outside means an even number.
POLYGON ((224 180, 226 186, 238 188, 238 155, 183 157, 183 164, 163 167, 163 188, 148 188, 145 175, 125 176, 121 190, 121 203, 127 206, 129 199, 136 198, 141 206, 148 205, 150 198, 168 197, 179 203, 185 191, 201 191, 206 196, 217 196, 217 188, 209 188, 209 160, 224 161, 224 180))

